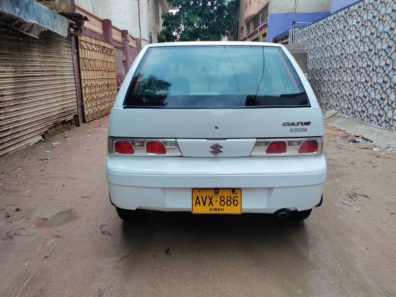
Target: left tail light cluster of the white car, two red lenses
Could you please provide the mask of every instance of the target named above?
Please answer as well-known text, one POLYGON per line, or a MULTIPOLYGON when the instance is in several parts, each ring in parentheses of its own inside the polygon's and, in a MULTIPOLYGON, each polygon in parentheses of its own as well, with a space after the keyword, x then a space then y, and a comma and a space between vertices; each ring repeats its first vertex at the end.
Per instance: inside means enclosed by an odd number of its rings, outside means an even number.
POLYGON ((108 152, 113 155, 181 156, 175 139, 121 139, 109 137, 108 152))

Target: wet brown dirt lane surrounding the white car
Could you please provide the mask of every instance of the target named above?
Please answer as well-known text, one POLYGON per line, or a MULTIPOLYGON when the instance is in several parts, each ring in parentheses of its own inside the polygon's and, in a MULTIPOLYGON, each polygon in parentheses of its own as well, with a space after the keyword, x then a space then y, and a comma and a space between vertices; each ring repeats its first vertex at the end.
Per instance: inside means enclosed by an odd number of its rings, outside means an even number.
POLYGON ((124 224, 107 193, 106 125, 0 157, 0 296, 396 296, 396 152, 327 127, 325 200, 303 224, 190 213, 124 224))

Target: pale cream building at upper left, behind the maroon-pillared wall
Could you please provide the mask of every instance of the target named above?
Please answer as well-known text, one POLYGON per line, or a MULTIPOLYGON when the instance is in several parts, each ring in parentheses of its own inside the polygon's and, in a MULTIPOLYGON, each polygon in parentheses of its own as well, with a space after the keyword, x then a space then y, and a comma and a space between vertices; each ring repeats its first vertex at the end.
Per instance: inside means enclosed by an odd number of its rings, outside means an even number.
POLYGON ((76 0, 76 4, 100 18, 111 19, 114 26, 140 38, 142 46, 158 42, 161 15, 169 9, 166 0, 76 0))

